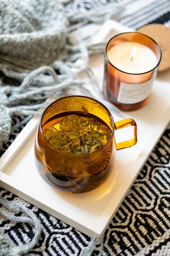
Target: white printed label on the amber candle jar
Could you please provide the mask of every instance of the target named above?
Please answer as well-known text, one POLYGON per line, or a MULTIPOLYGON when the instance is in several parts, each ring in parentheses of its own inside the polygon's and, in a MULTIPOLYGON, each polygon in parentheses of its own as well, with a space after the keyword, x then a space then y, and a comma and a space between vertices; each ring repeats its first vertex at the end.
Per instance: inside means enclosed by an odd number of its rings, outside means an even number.
POLYGON ((144 101, 150 94, 154 78, 144 83, 120 83, 117 101, 125 104, 134 104, 144 101))

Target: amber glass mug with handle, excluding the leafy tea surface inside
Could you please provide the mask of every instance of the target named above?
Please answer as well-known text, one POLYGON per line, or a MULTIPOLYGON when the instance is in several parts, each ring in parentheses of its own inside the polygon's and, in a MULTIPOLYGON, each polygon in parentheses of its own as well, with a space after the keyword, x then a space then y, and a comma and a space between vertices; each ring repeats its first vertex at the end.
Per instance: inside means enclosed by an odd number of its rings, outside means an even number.
POLYGON ((109 177, 115 163, 115 152, 137 142, 137 125, 133 119, 114 123, 109 110, 99 101, 83 96, 68 96, 51 103, 40 119, 35 139, 35 163, 41 177, 51 186, 67 193, 84 193, 96 189, 109 177), (84 113, 84 110, 86 112, 84 113), (46 123, 69 113, 101 119, 110 129, 106 144, 92 153, 73 154, 54 148, 44 137, 46 123), (134 137, 116 143, 115 130, 134 127, 134 137))

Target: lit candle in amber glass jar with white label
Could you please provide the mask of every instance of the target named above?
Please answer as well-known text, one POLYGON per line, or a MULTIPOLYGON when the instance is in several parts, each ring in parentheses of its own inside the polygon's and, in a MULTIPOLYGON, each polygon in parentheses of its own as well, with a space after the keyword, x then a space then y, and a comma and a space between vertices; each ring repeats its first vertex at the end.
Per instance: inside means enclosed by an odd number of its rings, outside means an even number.
POLYGON ((104 97, 121 110, 144 106, 161 61, 152 38, 127 32, 110 39, 105 50, 104 97))

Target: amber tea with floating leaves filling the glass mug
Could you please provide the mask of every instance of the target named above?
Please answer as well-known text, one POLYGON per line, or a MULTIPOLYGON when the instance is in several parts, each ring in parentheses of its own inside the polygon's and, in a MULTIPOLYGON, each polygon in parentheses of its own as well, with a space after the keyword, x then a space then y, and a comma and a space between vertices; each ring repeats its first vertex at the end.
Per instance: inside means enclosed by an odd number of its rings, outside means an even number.
MULTIPOLYGON (((113 163, 112 131, 102 119, 86 113, 85 107, 83 112, 63 112, 51 117, 43 124, 42 133, 47 142, 44 158, 36 147, 35 155, 46 182, 64 192, 81 193, 95 189, 108 178, 113 163)), ((42 143, 43 139, 39 139, 42 143)))

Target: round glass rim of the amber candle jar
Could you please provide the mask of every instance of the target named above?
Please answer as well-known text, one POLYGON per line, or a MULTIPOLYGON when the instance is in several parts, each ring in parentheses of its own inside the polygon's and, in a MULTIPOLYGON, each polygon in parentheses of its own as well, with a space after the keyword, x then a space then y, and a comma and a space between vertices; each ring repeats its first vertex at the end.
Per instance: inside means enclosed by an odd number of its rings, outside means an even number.
POLYGON ((114 67, 116 70, 118 70, 118 71, 120 71, 120 72, 122 72, 122 73, 125 73, 125 74, 130 74, 130 75, 141 75, 141 74, 147 74, 147 73, 149 73, 149 72, 155 70, 155 68, 157 68, 157 66, 159 65, 159 63, 160 63, 160 61, 161 61, 162 52, 161 52, 160 46, 159 46, 159 45, 157 44, 157 42, 156 42, 154 39, 152 39, 150 36, 147 36, 147 35, 145 35, 145 34, 139 33, 139 32, 137 32, 137 31, 134 31, 134 32, 132 31, 132 32, 120 33, 120 34, 117 34, 117 35, 113 36, 112 38, 110 38, 110 40, 108 41, 108 43, 107 43, 107 45, 106 45, 106 47, 105 47, 104 55, 105 55, 105 58, 106 58, 107 62, 108 62, 112 67, 114 67), (125 72, 125 71, 120 70, 119 68, 115 67, 115 66, 109 61, 109 59, 108 59, 108 57, 107 57, 106 50, 107 50, 107 47, 108 47, 108 45, 109 45, 109 43, 110 43, 111 40, 113 40, 115 37, 120 36, 120 35, 122 35, 122 34, 132 34, 132 33, 133 33, 133 34, 140 34, 140 35, 142 35, 142 36, 146 36, 146 37, 149 38, 153 43, 155 43, 155 45, 156 45, 156 46, 158 47, 158 49, 159 49, 160 58, 159 58, 159 61, 158 61, 157 65, 156 65, 155 67, 153 67, 151 70, 148 70, 147 72, 142 72, 142 73, 129 73, 129 72, 125 72))

